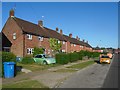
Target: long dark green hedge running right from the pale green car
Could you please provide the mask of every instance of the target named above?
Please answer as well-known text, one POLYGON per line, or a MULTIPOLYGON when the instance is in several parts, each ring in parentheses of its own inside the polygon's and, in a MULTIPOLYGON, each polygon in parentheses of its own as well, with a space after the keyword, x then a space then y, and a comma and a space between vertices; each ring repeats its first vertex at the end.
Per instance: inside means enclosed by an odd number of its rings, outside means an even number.
POLYGON ((87 56, 89 58, 99 57, 100 53, 98 52, 89 52, 89 51, 80 51, 73 53, 59 53, 56 54, 56 63, 67 64, 68 62, 74 62, 77 60, 82 60, 83 57, 87 56))

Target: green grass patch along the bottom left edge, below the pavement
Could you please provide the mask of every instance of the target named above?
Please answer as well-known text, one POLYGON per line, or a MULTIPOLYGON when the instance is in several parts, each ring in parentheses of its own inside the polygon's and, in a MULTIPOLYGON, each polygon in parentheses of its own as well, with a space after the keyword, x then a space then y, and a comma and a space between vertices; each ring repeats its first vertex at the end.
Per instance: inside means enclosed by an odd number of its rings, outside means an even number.
POLYGON ((24 80, 14 84, 3 85, 2 88, 48 88, 36 80, 24 80))

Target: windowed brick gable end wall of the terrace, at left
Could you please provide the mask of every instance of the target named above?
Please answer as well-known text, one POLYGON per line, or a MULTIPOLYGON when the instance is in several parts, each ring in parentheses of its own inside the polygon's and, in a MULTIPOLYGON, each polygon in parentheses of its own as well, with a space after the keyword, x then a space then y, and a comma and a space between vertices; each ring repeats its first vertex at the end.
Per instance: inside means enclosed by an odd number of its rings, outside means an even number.
MULTIPOLYGON (((23 36, 22 31, 13 20, 13 18, 9 18, 3 28, 2 32, 12 43, 11 52, 13 52, 17 56, 23 56, 23 36), (16 39, 13 39, 13 33, 16 33, 16 39)), ((7 44, 7 43, 6 43, 7 44)))

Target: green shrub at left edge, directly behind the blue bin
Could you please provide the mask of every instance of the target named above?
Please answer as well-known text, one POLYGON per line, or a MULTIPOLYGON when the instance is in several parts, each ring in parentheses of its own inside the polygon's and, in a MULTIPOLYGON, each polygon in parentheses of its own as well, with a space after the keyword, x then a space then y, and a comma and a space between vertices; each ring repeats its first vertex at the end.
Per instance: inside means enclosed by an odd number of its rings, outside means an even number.
POLYGON ((16 62, 16 56, 11 52, 2 52, 2 62, 16 62))

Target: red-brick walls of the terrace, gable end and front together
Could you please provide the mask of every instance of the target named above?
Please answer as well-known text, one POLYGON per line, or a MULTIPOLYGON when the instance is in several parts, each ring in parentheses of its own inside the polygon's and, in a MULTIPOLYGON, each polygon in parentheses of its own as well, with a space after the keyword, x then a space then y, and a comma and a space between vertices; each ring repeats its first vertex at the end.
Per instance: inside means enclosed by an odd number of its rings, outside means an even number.
MULTIPOLYGON (((17 25, 13 18, 8 19, 2 32, 12 43, 10 51, 17 56, 23 57, 27 55, 27 48, 34 47, 44 48, 45 54, 51 55, 52 53, 52 50, 50 49, 49 38, 43 38, 43 41, 40 41, 38 39, 38 36, 32 35, 32 39, 28 39, 27 34, 23 34, 21 28, 17 25), (16 39, 13 39, 13 33, 16 33, 16 39)), ((64 42, 64 44, 62 41, 62 50, 64 50, 67 53, 74 51, 78 52, 80 50, 92 51, 90 48, 87 48, 85 46, 82 48, 80 47, 80 45, 71 44, 69 41, 64 42)))

